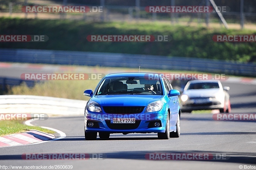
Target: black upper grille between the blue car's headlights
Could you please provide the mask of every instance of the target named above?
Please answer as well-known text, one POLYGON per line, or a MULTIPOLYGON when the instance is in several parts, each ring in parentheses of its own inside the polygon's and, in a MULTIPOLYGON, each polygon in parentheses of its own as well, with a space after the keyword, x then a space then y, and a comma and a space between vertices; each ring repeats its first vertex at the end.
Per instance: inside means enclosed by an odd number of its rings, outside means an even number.
POLYGON ((141 113, 145 106, 103 106, 106 113, 113 114, 134 114, 141 113))

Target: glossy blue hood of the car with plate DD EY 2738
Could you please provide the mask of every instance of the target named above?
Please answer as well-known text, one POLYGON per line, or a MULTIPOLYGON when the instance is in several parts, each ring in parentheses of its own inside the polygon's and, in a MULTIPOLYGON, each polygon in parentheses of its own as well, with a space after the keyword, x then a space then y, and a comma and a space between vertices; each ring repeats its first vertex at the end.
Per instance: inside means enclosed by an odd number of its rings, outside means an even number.
POLYGON ((100 106, 147 106, 162 97, 161 95, 99 95, 93 96, 91 100, 100 106))

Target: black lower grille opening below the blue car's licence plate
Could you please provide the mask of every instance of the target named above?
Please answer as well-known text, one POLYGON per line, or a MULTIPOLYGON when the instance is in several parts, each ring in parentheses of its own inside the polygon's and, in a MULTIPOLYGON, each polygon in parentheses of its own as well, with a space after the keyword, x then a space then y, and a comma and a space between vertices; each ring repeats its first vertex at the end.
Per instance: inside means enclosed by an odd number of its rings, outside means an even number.
POLYGON ((110 123, 110 120, 105 120, 110 129, 137 129, 140 126, 141 120, 135 120, 135 123, 110 123))

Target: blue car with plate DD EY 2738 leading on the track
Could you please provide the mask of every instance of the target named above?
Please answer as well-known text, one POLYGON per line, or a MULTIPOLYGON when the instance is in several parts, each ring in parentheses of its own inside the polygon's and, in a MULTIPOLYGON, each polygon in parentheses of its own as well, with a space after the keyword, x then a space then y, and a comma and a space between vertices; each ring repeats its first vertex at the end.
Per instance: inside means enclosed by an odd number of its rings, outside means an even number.
POLYGON ((86 140, 110 134, 157 133, 158 139, 180 136, 180 92, 163 74, 112 73, 102 78, 84 112, 86 140))

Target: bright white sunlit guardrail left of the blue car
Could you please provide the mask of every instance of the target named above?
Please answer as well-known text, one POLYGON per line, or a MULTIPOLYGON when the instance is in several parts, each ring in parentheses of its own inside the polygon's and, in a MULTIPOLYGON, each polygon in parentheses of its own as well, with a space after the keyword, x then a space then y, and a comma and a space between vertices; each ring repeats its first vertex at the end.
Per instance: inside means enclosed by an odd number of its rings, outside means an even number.
POLYGON ((48 115, 83 115, 86 100, 47 96, 0 95, 0 114, 44 113, 48 115))

